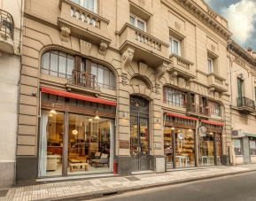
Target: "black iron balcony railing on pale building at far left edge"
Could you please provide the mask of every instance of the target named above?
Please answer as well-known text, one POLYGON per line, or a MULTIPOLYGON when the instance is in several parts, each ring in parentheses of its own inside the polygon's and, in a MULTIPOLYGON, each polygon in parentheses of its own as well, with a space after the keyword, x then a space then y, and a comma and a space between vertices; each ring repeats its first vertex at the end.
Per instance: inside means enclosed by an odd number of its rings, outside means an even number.
POLYGON ((1 36, 12 38, 14 33, 14 21, 9 12, 0 9, 0 34, 1 36))

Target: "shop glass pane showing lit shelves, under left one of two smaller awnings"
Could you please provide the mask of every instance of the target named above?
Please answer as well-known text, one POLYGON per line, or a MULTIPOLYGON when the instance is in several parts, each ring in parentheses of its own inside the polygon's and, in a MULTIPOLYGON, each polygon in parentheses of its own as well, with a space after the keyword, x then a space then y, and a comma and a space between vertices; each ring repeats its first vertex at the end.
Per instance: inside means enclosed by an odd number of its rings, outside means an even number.
POLYGON ((195 166, 194 131, 175 128, 175 141, 176 167, 195 166))

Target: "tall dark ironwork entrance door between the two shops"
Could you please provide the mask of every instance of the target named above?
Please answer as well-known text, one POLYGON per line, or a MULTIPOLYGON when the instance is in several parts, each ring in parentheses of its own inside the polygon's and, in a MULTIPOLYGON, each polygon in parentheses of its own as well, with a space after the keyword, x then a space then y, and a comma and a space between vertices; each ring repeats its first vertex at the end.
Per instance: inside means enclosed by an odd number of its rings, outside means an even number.
POLYGON ((130 97, 131 170, 150 169, 149 102, 143 97, 130 97))

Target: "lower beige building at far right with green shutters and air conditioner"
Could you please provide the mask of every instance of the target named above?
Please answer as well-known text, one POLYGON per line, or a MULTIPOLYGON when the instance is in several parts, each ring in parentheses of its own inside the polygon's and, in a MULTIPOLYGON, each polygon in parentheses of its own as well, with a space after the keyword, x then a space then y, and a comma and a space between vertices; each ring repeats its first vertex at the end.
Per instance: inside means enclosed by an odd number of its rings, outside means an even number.
POLYGON ((231 128, 236 163, 256 162, 256 52, 230 40, 231 128))

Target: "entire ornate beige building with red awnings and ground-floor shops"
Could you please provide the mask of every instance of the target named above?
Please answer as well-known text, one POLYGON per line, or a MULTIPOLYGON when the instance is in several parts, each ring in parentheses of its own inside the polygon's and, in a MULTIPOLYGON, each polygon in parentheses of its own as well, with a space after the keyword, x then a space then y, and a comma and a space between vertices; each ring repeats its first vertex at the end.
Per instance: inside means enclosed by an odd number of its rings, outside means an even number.
POLYGON ((231 33, 204 0, 26 0, 24 23, 18 183, 229 165, 231 33))

